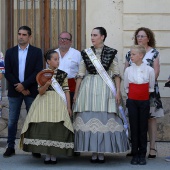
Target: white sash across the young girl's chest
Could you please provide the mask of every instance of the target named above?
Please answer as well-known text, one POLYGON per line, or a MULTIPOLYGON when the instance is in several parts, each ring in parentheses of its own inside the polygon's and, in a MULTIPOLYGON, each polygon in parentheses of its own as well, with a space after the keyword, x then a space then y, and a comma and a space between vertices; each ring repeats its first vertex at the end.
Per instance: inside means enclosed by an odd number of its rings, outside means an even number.
POLYGON ((51 86, 61 96, 64 103, 67 105, 66 95, 65 95, 63 89, 61 88, 61 86, 59 85, 59 83, 57 82, 57 80, 54 77, 51 78, 51 81, 52 81, 51 86))

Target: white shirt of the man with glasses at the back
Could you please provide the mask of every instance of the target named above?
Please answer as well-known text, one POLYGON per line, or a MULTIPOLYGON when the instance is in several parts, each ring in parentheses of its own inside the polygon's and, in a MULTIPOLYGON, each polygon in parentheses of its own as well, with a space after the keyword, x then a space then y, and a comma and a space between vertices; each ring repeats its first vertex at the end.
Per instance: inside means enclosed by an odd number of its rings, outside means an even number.
POLYGON ((80 61, 82 60, 80 51, 70 47, 63 57, 61 56, 59 49, 56 49, 55 51, 59 53, 60 57, 58 69, 65 71, 68 74, 67 78, 75 78, 79 70, 80 61))

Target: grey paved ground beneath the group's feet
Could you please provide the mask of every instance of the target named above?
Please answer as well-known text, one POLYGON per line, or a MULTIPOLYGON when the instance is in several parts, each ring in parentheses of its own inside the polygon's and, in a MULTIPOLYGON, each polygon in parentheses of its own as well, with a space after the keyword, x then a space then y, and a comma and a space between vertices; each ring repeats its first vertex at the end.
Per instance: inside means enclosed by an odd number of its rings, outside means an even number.
MULTIPOLYGON (((17 144, 18 146, 18 140, 17 144)), ((170 170, 170 162, 166 162, 164 158, 170 156, 170 142, 157 142, 157 158, 147 160, 147 165, 131 165, 131 158, 126 158, 126 154, 106 155, 106 163, 92 164, 89 162, 90 155, 81 154, 79 157, 59 157, 58 164, 45 165, 43 163, 44 156, 36 159, 30 153, 17 149, 16 155, 10 158, 3 158, 6 147, 6 139, 0 138, 0 170, 91 170, 91 169, 112 169, 112 170, 170 170)))

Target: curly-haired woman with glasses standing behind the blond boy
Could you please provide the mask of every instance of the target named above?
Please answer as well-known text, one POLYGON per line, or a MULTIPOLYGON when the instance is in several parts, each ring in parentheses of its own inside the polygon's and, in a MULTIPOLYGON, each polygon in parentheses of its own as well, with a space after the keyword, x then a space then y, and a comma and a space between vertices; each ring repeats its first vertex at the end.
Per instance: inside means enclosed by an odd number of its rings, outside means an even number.
MULTIPOLYGON (((153 67, 155 71, 155 91, 150 94, 150 118, 148 120, 148 134, 150 141, 150 151, 148 158, 156 158, 156 118, 164 116, 162 108, 162 102, 160 100, 159 87, 157 78, 160 72, 159 64, 159 52, 155 48, 156 41, 154 33, 145 27, 138 28, 134 34, 134 44, 143 45, 146 49, 146 55, 143 58, 143 62, 153 67)), ((132 61, 130 60, 130 51, 126 54, 125 68, 130 66, 132 61)))

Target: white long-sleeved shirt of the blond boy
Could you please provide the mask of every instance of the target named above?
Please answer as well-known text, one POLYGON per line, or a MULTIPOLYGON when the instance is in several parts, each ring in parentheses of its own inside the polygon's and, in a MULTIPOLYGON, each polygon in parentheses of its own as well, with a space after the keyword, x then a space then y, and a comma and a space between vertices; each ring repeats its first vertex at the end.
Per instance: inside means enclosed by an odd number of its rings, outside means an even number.
POLYGON ((129 83, 145 84, 149 83, 149 92, 154 91, 155 85, 155 72, 154 69, 145 63, 137 66, 132 63, 130 67, 127 67, 124 73, 124 88, 125 92, 129 92, 129 83))

